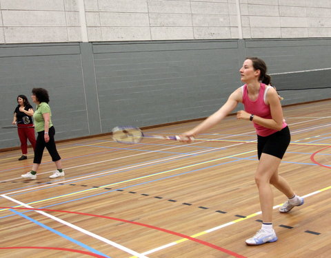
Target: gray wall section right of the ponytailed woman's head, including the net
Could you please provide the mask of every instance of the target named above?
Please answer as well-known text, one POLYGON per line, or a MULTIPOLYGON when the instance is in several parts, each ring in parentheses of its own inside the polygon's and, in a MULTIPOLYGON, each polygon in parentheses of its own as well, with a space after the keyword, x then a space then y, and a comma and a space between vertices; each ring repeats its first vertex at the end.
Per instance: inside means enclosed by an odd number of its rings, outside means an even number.
POLYGON ((283 105, 331 98, 331 39, 245 40, 245 52, 267 63, 283 105), (329 89, 293 90, 314 87, 329 89))

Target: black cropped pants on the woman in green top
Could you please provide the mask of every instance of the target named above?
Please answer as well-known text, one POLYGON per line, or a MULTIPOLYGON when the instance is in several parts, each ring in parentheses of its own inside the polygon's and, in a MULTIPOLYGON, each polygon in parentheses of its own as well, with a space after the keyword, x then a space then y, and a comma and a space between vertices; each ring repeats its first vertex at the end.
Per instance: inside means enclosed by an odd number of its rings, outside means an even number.
POLYGON ((61 160, 61 157, 59 153, 57 152, 57 146, 55 145, 54 135, 55 135, 55 129, 54 127, 50 127, 48 130, 48 136, 50 136, 50 140, 48 142, 45 142, 45 131, 39 131, 36 141, 36 149, 34 149, 34 159, 33 163, 40 164, 41 158, 43 158, 43 150, 48 150, 48 153, 50 153, 50 156, 52 157, 52 161, 56 162, 58 160, 61 160))

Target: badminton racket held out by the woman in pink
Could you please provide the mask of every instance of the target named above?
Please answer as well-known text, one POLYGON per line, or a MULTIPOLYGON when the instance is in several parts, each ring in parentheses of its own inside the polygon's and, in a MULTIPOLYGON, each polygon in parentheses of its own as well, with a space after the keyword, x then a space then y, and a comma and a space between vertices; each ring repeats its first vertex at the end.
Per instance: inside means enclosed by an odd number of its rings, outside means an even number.
MULTIPOLYGON (((143 138, 156 138, 161 140, 181 140, 179 136, 155 136, 147 135, 138 127, 114 127, 112 139, 116 142, 134 144, 139 143, 143 138)), ((193 140, 193 138, 191 138, 193 140)))

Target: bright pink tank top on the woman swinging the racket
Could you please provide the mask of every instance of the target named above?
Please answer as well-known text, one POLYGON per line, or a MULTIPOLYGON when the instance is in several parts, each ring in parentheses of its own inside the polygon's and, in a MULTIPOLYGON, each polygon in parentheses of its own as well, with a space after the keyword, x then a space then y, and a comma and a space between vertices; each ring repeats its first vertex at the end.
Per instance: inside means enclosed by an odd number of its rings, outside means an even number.
MULTIPOLYGON (((243 106, 245 107, 245 111, 250 114, 257 115, 261 118, 271 119, 272 116, 270 113, 270 106, 265 104, 265 95, 266 95, 265 90, 267 89, 265 84, 263 83, 260 84, 259 96, 257 97, 257 100, 254 101, 250 100, 250 98, 248 97, 247 84, 243 85, 242 89, 243 89, 243 106)), ((253 120, 253 124, 255 130, 257 131, 257 135, 259 136, 263 136, 263 137, 270 136, 270 134, 277 132, 277 130, 269 129, 261 125, 257 125, 254 122, 254 120, 253 120)), ((285 121, 283 121, 283 126, 281 128, 283 129, 286 126, 287 124, 285 123, 285 121)))

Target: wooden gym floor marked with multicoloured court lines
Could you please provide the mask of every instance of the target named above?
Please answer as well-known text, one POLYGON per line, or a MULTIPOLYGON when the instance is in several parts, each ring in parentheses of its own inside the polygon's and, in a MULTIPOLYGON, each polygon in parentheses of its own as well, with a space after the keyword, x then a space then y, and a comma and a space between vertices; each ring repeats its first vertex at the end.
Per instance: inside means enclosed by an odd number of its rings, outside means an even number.
MULTIPOLYGON (((109 136, 57 144, 66 176, 51 180, 46 152, 37 180, 19 150, 0 153, 0 257, 331 257, 331 100, 284 107, 292 140, 279 172, 303 206, 281 214, 279 240, 246 246, 260 228, 250 122, 228 116, 192 144, 109 136)), ((165 136, 195 122, 148 129, 165 136)), ((56 125, 55 125, 56 126, 56 125)))

